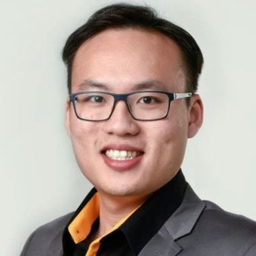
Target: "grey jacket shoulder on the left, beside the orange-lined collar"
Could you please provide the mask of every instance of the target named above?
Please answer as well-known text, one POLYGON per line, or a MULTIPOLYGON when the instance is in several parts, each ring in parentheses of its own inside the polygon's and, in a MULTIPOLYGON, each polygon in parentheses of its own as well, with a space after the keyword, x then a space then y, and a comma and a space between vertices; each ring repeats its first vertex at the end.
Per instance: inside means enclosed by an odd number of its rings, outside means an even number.
POLYGON ((53 255, 59 255, 62 250, 62 234, 73 213, 59 217, 37 228, 27 239, 21 256, 43 256, 51 247, 53 255))

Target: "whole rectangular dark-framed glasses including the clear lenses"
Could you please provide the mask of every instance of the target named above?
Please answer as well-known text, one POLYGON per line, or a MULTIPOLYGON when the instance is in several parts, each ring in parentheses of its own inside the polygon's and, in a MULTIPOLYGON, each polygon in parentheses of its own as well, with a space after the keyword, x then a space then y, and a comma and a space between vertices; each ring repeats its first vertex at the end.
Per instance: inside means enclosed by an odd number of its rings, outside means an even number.
POLYGON ((117 101, 125 101, 135 120, 155 121, 167 117, 171 101, 191 97, 192 93, 166 91, 135 91, 132 93, 107 93, 81 91, 69 95, 77 118, 85 121, 105 121, 115 109, 117 101))

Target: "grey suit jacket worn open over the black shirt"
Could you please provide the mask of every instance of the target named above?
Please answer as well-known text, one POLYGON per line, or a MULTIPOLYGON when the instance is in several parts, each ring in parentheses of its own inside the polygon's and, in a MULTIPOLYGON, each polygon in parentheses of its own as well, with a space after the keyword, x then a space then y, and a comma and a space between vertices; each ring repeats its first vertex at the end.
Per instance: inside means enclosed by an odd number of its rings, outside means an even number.
MULTIPOLYGON (((73 213, 39 227, 21 256, 62 256, 62 233, 73 213)), ((256 256, 256 223, 201 201, 187 187, 183 202, 139 256, 256 256)))

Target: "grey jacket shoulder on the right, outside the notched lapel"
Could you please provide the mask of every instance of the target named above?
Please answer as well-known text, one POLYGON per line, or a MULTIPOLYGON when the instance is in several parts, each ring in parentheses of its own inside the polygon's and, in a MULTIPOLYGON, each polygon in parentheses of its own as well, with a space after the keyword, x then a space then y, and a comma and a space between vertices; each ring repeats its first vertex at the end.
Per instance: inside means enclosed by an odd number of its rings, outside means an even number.
POLYGON ((256 222, 205 201, 205 209, 185 241, 188 247, 193 246, 190 241, 197 243, 197 249, 208 250, 208 255, 256 255, 256 222))

